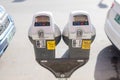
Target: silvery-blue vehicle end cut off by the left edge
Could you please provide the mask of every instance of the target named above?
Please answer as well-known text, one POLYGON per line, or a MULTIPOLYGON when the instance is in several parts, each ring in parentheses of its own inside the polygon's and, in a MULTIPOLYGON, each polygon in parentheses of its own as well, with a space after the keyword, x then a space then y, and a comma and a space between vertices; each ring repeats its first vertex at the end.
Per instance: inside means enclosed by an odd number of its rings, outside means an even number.
POLYGON ((12 17, 0 5, 0 56, 7 48, 15 33, 15 25, 12 17))

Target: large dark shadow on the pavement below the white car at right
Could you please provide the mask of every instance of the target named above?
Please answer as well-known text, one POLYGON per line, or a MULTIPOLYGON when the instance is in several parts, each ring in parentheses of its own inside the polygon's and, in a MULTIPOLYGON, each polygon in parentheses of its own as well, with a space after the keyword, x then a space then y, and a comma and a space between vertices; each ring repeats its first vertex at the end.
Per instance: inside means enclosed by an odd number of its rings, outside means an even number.
POLYGON ((113 46, 104 48, 98 55, 95 80, 120 80, 120 51, 113 46))

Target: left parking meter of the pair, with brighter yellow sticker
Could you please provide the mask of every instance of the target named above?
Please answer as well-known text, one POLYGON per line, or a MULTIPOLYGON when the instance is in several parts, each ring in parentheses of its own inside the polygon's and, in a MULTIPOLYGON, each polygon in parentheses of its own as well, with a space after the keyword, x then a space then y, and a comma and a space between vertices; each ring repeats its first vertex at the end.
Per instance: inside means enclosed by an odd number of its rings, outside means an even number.
POLYGON ((61 32, 54 22, 52 13, 36 13, 29 28, 28 37, 34 46, 38 62, 55 58, 55 47, 61 39, 61 32))

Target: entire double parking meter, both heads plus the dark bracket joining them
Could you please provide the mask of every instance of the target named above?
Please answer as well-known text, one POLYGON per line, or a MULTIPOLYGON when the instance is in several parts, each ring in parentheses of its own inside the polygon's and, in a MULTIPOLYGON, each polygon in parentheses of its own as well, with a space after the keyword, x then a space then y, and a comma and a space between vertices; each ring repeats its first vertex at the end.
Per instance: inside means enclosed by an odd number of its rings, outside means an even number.
POLYGON ((89 59, 90 45, 95 38, 95 28, 87 12, 75 11, 70 14, 63 33, 68 45, 62 58, 55 58, 55 46, 60 42, 61 32, 50 12, 39 12, 33 17, 29 29, 29 40, 34 46, 37 62, 51 71, 56 78, 69 78, 89 59))

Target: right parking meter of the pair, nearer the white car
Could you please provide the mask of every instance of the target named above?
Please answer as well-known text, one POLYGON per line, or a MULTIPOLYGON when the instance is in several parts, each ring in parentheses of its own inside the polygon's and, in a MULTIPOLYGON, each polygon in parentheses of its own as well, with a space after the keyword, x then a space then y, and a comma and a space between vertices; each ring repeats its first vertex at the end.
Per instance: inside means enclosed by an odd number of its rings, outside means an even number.
POLYGON ((90 45, 95 38, 95 28, 85 11, 73 11, 63 33, 63 40, 69 46, 69 58, 88 59, 90 45))

